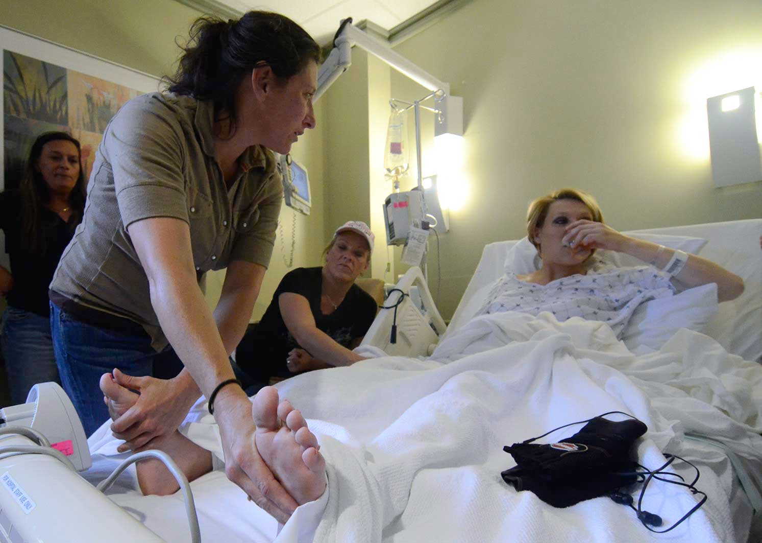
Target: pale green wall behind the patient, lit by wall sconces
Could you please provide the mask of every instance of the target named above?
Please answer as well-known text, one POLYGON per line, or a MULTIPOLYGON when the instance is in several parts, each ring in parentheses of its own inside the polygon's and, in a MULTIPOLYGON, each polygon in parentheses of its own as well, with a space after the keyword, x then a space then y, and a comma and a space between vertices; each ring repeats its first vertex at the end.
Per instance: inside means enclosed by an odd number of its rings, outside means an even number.
MULTIPOLYGON (((706 127, 706 98, 762 90, 760 27, 758 0, 473 0, 395 47, 464 101, 443 316, 485 244, 525 235, 527 204, 553 188, 590 191, 618 230, 762 217, 762 182, 712 185, 706 127)), ((392 72, 393 97, 424 94, 392 72)))

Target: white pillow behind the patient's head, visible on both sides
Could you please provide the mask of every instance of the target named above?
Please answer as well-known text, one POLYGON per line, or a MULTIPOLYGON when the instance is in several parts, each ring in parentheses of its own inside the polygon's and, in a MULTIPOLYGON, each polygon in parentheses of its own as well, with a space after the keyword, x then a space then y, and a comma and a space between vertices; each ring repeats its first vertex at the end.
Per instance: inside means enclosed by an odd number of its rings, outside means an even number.
MULTIPOLYGON (((666 234, 645 234, 645 233, 626 233, 637 239, 659 243, 670 249, 680 249, 693 255, 699 252, 706 245, 706 239, 690 236, 668 236, 666 234)), ((598 250, 595 252, 597 258, 604 260, 619 268, 629 268, 631 266, 642 266, 644 262, 636 259, 634 256, 625 255, 621 252, 598 250)), ((505 272, 512 272, 516 275, 527 275, 539 269, 540 260, 537 249, 534 248, 529 238, 523 237, 516 243, 505 255, 505 272)))

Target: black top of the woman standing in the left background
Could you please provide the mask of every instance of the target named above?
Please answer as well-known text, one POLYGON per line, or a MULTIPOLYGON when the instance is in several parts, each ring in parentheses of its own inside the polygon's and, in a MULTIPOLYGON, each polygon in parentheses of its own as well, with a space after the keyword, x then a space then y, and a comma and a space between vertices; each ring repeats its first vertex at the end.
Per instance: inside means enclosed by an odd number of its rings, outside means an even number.
POLYGON ((63 250, 74 234, 75 214, 66 223, 47 207, 40 207, 40 228, 46 247, 45 252, 38 254, 30 252, 29 243, 24 239, 22 207, 18 191, 0 193, 0 230, 5 232, 5 252, 10 257, 13 275, 8 305, 49 316, 48 286, 63 250))

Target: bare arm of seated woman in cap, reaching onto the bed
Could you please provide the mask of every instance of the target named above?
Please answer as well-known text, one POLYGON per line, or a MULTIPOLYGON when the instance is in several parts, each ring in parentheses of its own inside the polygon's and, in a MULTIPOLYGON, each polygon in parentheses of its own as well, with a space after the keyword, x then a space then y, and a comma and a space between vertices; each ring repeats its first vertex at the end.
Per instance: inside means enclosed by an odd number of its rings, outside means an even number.
POLYGON ((284 292, 278 297, 278 306, 291 335, 314 358, 332 366, 348 366, 365 359, 339 345, 315 326, 315 317, 312 316, 306 297, 284 292))

